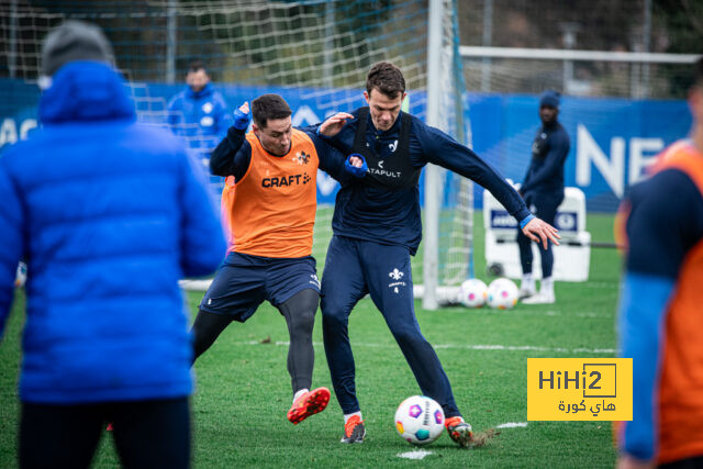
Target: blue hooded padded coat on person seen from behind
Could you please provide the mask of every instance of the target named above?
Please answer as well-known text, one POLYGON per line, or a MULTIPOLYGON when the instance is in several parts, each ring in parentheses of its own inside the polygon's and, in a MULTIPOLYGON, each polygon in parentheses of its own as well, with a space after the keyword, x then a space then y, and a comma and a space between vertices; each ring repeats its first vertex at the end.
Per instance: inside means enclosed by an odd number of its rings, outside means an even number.
POLYGON ((178 279, 225 253, 202 170, 168 130, 135 123, 111 68, 74 62, 44 126, 0 155, 0 336, 26 258, 20 399, 83 403, 192 391, 178 279))

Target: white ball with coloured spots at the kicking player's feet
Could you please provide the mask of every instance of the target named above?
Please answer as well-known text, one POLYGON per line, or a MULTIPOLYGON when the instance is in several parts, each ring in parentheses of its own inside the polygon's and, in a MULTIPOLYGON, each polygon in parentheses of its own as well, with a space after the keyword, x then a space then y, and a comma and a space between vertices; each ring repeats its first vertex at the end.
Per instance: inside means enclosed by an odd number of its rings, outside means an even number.
POLYGON ((395 411, 395 428, 412 445, 428 445, 444 431, 444 411, 426 395, 405 399, 395 411))

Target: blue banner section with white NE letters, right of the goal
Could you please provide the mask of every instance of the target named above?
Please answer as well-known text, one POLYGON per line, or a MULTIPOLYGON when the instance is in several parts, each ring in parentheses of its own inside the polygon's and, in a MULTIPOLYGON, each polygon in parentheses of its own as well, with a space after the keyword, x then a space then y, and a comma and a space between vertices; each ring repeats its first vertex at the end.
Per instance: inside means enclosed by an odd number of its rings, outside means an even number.
MULTIPOLYGON (((538 107, 532 96, 469 94, 473 149, 515 182, 529 164, 538 107)), ((571 138, 566 185, 585 193, 589 211, 606 212, 692 123, 685 101, 614 98, 562 98, 559 121, 571 138)))

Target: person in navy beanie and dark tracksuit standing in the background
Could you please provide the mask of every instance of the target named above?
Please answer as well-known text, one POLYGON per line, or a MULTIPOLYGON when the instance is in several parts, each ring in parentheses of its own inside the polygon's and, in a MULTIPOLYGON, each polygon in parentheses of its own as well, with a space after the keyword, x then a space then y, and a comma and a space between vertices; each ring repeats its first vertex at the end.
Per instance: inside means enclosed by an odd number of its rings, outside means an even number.
MULTIPOLYGON (((569 135, 557 118, 559 115, 559 93, 545 91, 539 98, 539 119, 542 127, 532 143, 532 160, 527 174, 520 188, 520 194, 537 216, 554 225, 557 208, 563 200, 563 163, 569 154, 569 135)), ((554 253, 551 245, 539 252, 542 257, 542 284, 539 294, 532 275, 532 243, 517 230, 517 247, 523 279, 520 286, 520 298, 527 304, 554 303, 554 253), (529 297, 529 298, 527 298, 529 297)))

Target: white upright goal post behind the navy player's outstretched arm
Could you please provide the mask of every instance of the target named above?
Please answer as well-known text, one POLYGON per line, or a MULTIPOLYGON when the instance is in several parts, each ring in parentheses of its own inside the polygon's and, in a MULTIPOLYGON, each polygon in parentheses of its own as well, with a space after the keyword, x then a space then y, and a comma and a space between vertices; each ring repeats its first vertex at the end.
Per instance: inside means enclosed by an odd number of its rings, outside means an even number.
MULTIPOLYGON (((427 125, 442 126, 442 19, 444 0, 429 0, 427 26, 427 125)), ((442 178, 439 168, 425 167, 425 245, 423 255, 423 281, 425 294, 422 308, 436 310, 437 258, 439 253, 439 198, 442 178)))

